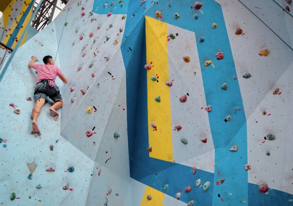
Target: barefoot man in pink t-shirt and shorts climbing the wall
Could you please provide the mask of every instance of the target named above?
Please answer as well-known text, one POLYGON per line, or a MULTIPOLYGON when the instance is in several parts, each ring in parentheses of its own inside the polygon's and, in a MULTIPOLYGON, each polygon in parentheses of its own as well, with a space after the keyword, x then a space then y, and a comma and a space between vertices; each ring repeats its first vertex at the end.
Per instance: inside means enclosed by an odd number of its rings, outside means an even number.
POLYGON ((45 56, 43 58, 44 64, 34 64, 35 61, 38 61, 37 57, 32 57, 30 63, 28 63, 30 68, 33 68, 38 72, 37 84, 34 89, 35 106, 32 110, 32 128, 34 134, 37 133, 40 136, 41 131, 38 128, 37 119, 42 107, 48 102, 46 97, 49 97, 54 101, 54 104, 50 107, 50 112, 54 115, 54 120, 57 120, 59 114, 56 112, 56 109, 62 107, 63 101, 59 87, 55 83, 55 79, 59 76, 64 84, 67 83, 67 79, 61 72, 60 68, 54 66, 55 62, 51 56, 45 56))

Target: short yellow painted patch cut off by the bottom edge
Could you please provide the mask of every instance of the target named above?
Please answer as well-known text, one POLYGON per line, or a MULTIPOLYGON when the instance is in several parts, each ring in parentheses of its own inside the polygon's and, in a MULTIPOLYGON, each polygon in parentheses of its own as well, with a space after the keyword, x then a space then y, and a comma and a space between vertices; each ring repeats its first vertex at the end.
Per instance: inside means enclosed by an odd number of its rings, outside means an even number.
POLYGON ((143 195, 143 199, 141 200, 140 206, 165 206, 163 204, 164 197, 164 193, 147 186, 143 195), (151 200, 147 199, 148 195, 152 197, 151 200))

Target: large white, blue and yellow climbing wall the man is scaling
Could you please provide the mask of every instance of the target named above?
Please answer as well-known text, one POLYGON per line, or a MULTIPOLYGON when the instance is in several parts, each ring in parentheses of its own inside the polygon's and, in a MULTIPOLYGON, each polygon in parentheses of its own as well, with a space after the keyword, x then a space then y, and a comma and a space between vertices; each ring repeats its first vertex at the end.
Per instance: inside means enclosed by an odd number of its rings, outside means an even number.
POLYGON ((292 57, 239 1, 71 0, 5 62, 0 202, 291 205, 292 57), (37 138, 33 55, 68 79, 37 138))

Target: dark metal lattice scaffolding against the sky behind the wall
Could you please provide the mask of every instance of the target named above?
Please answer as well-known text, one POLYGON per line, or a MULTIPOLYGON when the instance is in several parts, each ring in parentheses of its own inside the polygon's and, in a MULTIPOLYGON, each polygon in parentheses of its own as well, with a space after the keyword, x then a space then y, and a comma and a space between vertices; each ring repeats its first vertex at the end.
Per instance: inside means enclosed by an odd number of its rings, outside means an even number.
MULTIPOLYGON (((45 28, 46 25, 51 23, 53 19, 53 15, 55 12, 55 9, 62 10, 57 6, 58 0, 44 0, 41 4, 41 6, 38 9, 38 12, 34 16, 31 26, 37 29, 38 31, 41 31, 43 28, 45 28)), ((62 3, 67 4, 69 0, 60 0, 62 3)), ((36 9, 38 6, 38 3, 35 2, 33 6, 33 10, 36 9)))

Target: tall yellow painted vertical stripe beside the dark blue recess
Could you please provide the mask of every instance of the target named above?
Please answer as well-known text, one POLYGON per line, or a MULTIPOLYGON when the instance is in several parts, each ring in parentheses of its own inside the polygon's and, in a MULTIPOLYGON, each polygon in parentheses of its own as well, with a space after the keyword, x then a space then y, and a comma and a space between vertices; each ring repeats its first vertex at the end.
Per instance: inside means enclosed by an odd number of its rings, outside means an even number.
POLYGON ((150 157, 173 161, 172 126, 170 109, 170 88, 165 85, 169 81, 167 32, 168 24, 145 16, 147 64, 152 62, 152 68, 147 70, 147 110, 149 145, 152 146, 150 157), (158 75, 158 81, 152 81, 151 76, 158 75), (161 102, 154 100, 160 96, 161 102), (150 127, 155 122, 157 131, 150 127))

